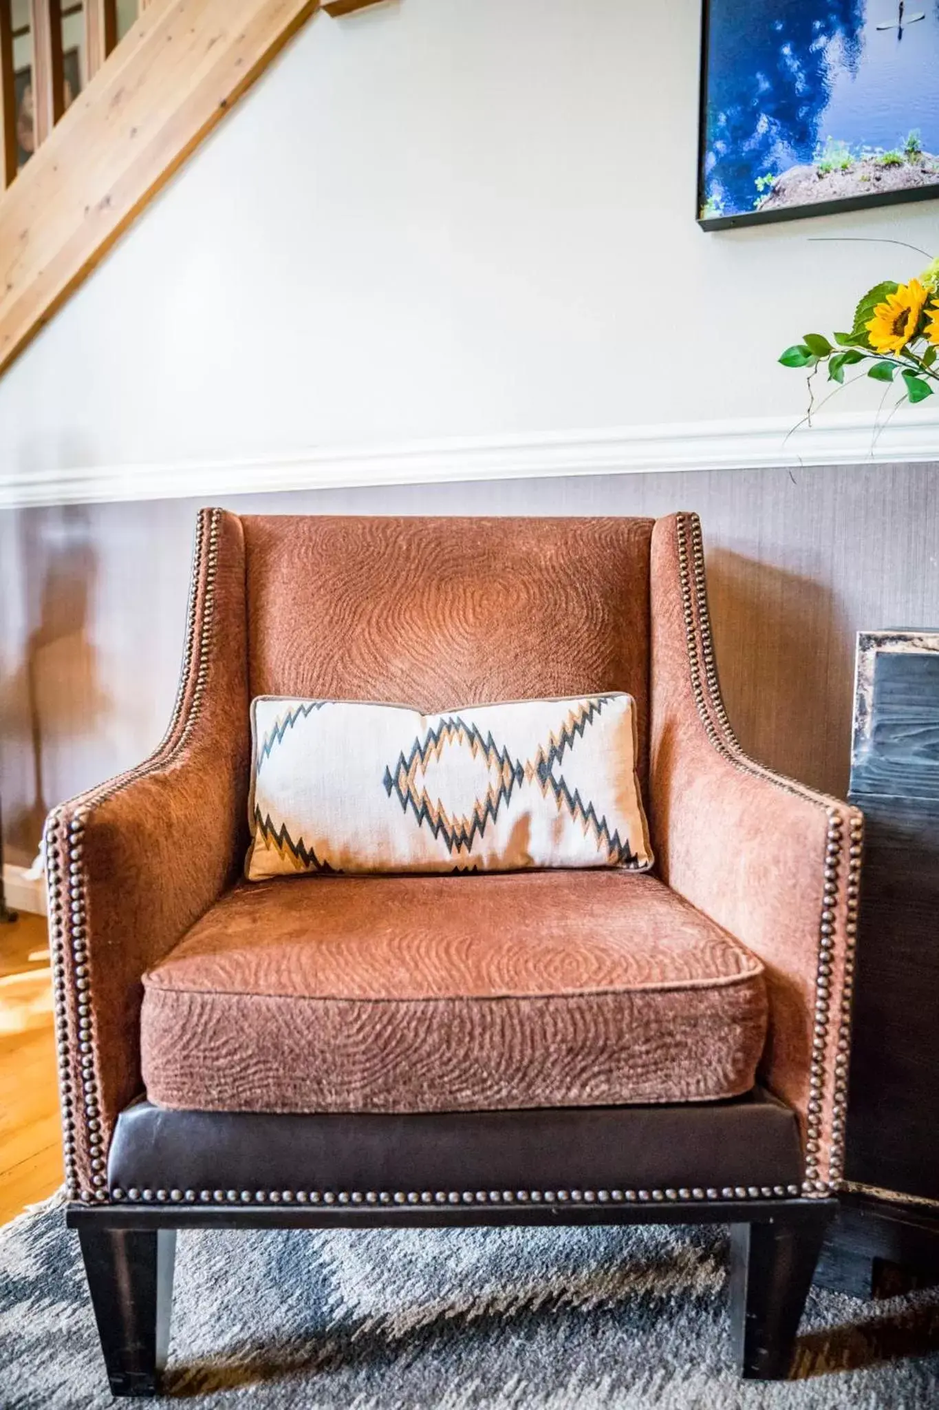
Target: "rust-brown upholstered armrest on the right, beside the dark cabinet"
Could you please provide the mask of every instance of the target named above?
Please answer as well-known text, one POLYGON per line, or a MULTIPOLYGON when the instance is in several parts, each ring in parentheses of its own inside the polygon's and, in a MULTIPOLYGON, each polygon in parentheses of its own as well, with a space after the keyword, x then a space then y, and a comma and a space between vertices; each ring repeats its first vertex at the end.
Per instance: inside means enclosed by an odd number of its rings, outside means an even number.
POLYGON ((663 880, 759 955, 770 1019, 762 1076, 800 1117, 805 1193, 836 1189, 863 818, 753 763, 714 664, 697 515, 652 537, 650 815, 663 880))

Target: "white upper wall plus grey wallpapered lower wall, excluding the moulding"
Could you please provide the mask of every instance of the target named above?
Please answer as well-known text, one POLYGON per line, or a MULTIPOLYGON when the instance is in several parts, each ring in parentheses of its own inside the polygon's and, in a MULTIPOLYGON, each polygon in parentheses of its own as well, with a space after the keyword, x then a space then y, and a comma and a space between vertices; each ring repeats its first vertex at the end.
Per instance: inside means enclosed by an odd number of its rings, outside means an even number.
MULTIPOLYGON (((702 234, 697 49, 697 0, 400 0, 317 18, 0 378, 0 489, 56 467, 797 419, 804 385, 779 351, 921 262, 808 237, 939 250, 939 204, 702 234)), ((697 508, 745 743, 838 788, 852 633, 935 625, 935 474, 218 499, 267 513, 697 508)), ((0 512, 13 859, 30 860, 48 807, 160 737, 193 519, 183 501, 0 512)))

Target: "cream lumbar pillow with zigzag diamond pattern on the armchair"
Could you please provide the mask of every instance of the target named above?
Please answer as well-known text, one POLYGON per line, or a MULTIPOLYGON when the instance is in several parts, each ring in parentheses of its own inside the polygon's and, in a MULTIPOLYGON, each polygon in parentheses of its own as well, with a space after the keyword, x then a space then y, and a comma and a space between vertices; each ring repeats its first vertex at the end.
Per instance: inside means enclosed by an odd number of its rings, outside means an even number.
POLYGON ((249 881, 310 871, 652 866, 631 695, 251 705, 249 881))

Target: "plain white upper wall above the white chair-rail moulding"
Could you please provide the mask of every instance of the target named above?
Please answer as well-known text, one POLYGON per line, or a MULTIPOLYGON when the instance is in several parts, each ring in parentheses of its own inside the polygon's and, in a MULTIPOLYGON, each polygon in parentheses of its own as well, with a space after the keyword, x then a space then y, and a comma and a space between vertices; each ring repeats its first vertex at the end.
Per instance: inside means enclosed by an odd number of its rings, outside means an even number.
MULTIPOLYGON (((314 20, 0 381, 0 475, 793 416, 939 204, 702 234, 698 0, 314 20)), ((873 405, 849 391, 847 410, 873 405)))

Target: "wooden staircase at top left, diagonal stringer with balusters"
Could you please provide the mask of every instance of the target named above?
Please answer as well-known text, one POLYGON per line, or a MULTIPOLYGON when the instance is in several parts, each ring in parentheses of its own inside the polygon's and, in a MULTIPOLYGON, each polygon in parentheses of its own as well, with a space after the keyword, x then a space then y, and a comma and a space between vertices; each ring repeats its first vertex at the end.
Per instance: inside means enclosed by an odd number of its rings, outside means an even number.
POLYGON ((0 371, 318 7, 0 0, 0 371), (82 27, 77 56, 66 20, 82 27))

